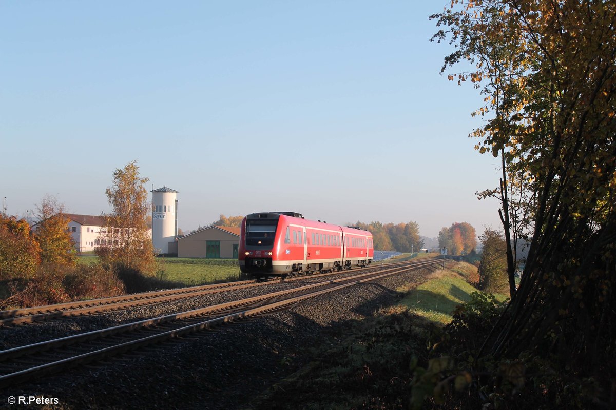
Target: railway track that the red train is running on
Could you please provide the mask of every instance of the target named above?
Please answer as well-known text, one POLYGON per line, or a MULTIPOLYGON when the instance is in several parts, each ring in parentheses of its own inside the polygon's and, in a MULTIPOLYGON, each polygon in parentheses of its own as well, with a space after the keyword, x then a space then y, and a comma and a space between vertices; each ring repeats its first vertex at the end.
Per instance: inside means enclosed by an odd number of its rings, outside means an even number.
MULTIPOLYGON (((303 280, 306 277, 323 277, 331 274, 319 274, 286 278, 285 282, 303 280)), ((106 312, 114 309, 124 309, 127 307, 142 306, 168 302, 177 299, 194 298, 205 294, 221 293, 229 290, 240 290, 256 286, 264 286, 277 280, 267 282, 256 282, 255 280, 243 280, 239 282, 217 283, 215 285, 192 286, 190 288, 179 288, 155 292, 136 293, 124 296, 114 296, 111 298, 91 299, 89 301, 67 302, 62 304, 29 307, 23 309, 1 310, 0 326, 18 325, 20 323, 33 323, 36 321, 54 320, 62 317, 75 315, 85 315, 91 313, 106 312)))

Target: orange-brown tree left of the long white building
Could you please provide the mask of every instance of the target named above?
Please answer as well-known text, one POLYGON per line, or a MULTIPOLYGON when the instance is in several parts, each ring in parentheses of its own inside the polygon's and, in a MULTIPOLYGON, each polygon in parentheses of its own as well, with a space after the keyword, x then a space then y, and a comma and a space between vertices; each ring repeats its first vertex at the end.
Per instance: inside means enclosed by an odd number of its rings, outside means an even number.
POLYGON ((34 234, 41 247, 41 261, 74 266, 77 261, 75 243, 68 232, 69 219, 57 197, 46 195, 37 205, 38 223, 34 234))

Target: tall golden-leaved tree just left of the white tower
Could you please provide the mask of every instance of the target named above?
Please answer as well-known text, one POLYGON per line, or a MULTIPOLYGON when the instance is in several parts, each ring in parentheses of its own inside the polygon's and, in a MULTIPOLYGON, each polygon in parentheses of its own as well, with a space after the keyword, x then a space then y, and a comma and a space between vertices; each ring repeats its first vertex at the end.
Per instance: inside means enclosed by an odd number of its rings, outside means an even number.
POLYGON ((147 226, 150 203, 144 187, 148 181, 139 176, 136 160, 114 171, 113 185, 105 190, 113 207, 112 213, 103 215, 107 222, 101 239, 106 245, 95 250, 103 264, 153 272, 156 261, 147 226))

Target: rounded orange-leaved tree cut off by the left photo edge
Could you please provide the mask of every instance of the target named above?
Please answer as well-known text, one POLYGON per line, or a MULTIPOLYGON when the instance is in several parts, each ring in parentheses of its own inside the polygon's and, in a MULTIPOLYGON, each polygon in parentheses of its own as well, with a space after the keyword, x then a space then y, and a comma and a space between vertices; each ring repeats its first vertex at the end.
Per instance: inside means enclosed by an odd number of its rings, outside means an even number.
POLYGON ((41 264, 41 248, 25 219, 0 213, 0 280, 31 278, 41 264))

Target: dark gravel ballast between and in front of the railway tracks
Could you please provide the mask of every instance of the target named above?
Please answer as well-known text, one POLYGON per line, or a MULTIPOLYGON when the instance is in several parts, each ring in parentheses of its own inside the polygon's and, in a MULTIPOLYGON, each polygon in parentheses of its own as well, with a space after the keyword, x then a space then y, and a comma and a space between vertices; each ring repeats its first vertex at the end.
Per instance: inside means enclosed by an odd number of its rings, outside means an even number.
MULTIPOLYGON (((421 268, 377 282, 350 286, 302 304, 140 349, 106 363, 4 388, 0 408, 16 407, 7 404, 9 396, 57 398, 58 404, 30 406, 36 409, 250 408, 251 398, 306 363, 311 347, 335 344, 336 334, 344 332, 349 319, 362 319, 379 307, 393 304, 399 298, 396 288, 409 283, 419 285, 436 269, 439 268, 421 268)), ((282 289, 267 288, 267 292, 282 289)), ((253 293, 252 290, 241 292, 242 298, 261 294, 261 291, 253 293), (245 293, 253 294, 244 296, 245 293)), ((215 304, 232 296, 214 294, 203 298, 212 298, 208 304, 215 304)), ((6 349, 7 345, 33 342, 37 338, 51 339, 54 334, 66 336, 67 331, 81 333, 171 313, 173 309, 195 309, 203 303, 205 301, 191 299, 177 302, 177 306, 136 307, 44 325, 20 326, 3 330, 0 343, 2 349, 6 349), (190 304, 195 307, 187 308, 190 304)))

